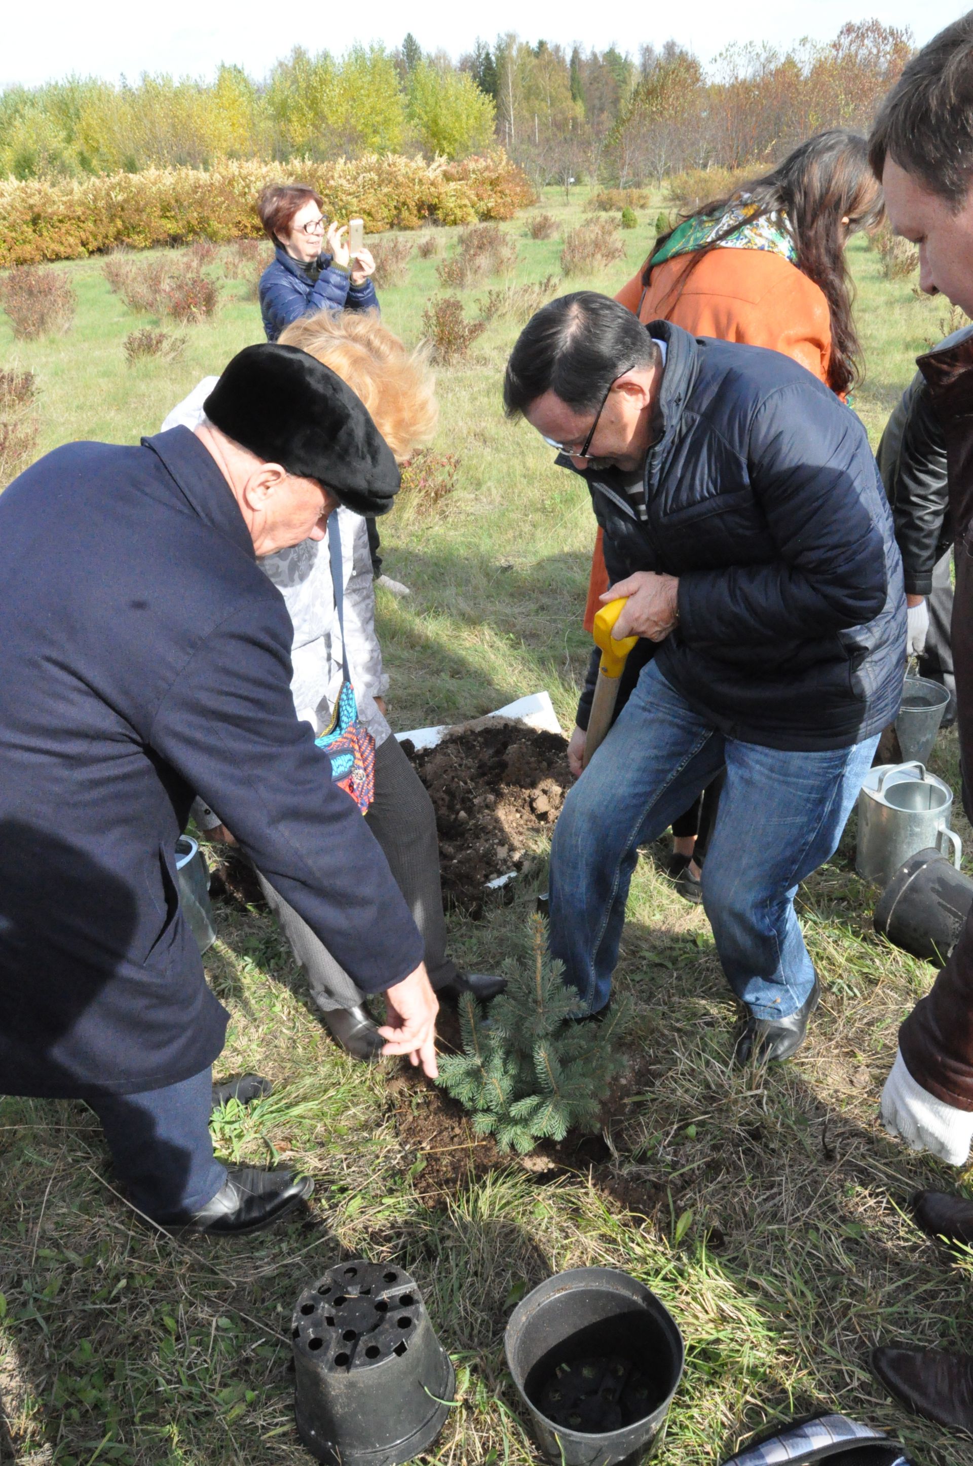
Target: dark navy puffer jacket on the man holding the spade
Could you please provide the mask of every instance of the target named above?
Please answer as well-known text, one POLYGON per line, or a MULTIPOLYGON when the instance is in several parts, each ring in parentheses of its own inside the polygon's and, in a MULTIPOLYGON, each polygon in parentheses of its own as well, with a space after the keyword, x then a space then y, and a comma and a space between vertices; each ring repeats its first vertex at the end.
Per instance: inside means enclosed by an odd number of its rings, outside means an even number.
POLYGON ((648 520, 615 475, 583 476, 611 582, 678 576, 659 671, 747 743, 828 749, 879 733, 901 701, 906 598, 865 428, 778 352, 646 328, 668 343, 648 520))

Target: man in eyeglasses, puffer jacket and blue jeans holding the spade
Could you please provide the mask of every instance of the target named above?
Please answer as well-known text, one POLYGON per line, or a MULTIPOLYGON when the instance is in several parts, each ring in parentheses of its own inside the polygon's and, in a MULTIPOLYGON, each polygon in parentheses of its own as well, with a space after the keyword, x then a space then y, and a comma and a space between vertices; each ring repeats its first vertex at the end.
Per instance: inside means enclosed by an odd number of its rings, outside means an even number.
POLYGON ((551 951, 579 1016, 610 1001, 639 846, 725 765, 702 885, 746 1010, 736 1056, 788 1058, 819 997, 794 894, 834 853, 904 677, 901 560, 865 428, 790 358, 642 325, 593 292, 528 323, 504 406, 588 482, 602 600, 627 598, 613 635, 655 645, 554 831, 551 951))

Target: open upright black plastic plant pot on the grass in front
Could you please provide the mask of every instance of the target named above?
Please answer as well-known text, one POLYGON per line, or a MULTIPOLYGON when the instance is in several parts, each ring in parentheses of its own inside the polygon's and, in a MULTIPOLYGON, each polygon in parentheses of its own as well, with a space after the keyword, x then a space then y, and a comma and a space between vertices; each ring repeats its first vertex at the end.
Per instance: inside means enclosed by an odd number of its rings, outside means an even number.
POLYGON ((517 1305, 504 1346, 555 1466, 652 1453, 683 1374, 683 1338, 642 1283, 614 1268, 557 1272, 517 1305))

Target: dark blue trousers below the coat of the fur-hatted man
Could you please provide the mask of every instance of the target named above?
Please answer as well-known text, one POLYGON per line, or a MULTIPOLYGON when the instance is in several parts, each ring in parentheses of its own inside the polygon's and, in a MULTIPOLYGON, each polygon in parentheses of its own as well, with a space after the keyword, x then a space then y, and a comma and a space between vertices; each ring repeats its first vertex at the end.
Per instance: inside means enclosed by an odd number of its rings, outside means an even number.
POLYGON ((125 1193, 147 1217, 177 1221, 205 1207, 223 1186, 226 1170, 210 1139, 210 1069, 164 1089, 88 1104, 101 1120, 125 1193))

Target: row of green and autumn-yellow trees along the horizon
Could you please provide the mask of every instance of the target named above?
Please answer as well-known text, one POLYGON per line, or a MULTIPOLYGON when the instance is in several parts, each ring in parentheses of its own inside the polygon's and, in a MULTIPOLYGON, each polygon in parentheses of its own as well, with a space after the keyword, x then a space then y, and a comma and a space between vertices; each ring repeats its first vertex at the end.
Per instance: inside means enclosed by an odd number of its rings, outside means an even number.
POLYGON ((639 186, 761 163, 825 126, 865 129, 910 50, 907 32, 878 21, 787 51, 734 45, 709 67, 673 41, 621 54, 511 34, 454 63, 407 35, 394 51, 297 48, 261 82, 230 66, 212 82, 73 78, 0 92, 0 176, 368 151, 460 158, 500 141, 535 183, 639 186))

